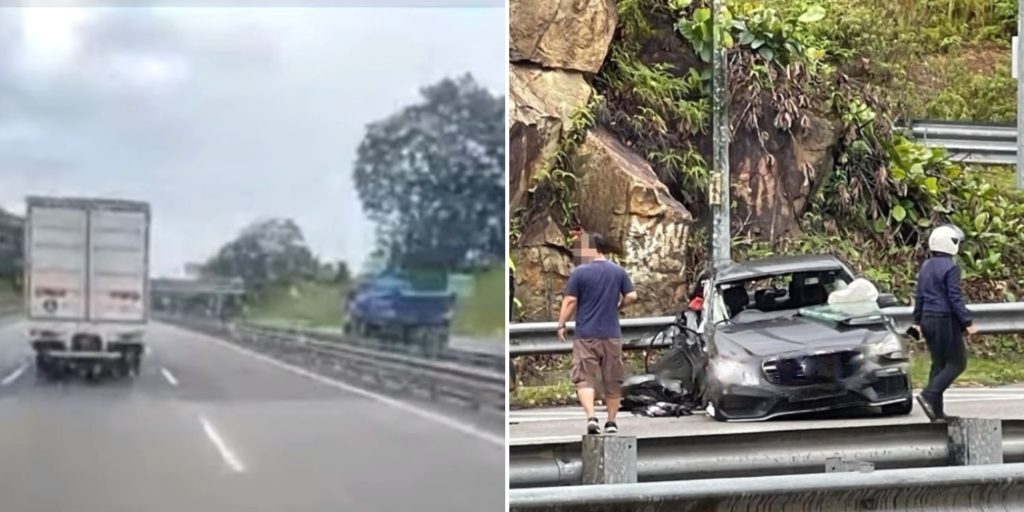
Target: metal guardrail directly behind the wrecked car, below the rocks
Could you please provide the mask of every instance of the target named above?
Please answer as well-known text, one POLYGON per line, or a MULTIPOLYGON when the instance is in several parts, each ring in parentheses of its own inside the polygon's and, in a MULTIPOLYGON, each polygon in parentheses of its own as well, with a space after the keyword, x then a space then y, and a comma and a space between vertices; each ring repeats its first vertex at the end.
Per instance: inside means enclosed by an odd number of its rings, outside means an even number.
MULTIPOLYGON (((979 334, 1024 333, 1024 302, 969 304, 967 307, 974 315, 979 334)), ((900 330, 910 327, 913 322, 913 308, 911 307, 889 307, 883 309, 882 313, 891 316, 900 330)), ((664 348, 671 345, 671 340, 657 340, 651 344, 650 337, 672 325, 673 322, 675 322, 674 316, 623 319, 623 348, 664 348)), ((575 324, 568 323, 567 327, 571 331, 575 324)), ((572 344, 559 341, 557 332, 558 323, 556 322, 511 324, 509 326, 509 353, 512 356, 517 356, 571 352, 572 344)))

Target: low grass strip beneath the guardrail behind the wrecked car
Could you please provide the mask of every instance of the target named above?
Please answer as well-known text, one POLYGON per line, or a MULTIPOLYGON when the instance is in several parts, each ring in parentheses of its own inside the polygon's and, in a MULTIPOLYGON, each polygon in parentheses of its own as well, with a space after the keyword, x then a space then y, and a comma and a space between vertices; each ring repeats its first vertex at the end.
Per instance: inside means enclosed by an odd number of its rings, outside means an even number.
MULTIPOLYGON (((632 366, 632 365, 631 365, 632 366)), ((631 375, 642 373, 642 367, 631 369, 631 375)), ((910 364, 910 378, 915 389, 928 383, 931 358, 928 353, 915 353, 910 364)), ((1024 356, 981 357, 972 355, 967 371, 953 387, 1002 386, 1024 382, 1024 356)), ((575 389, 569 382, 568 370, 549 372, 542 379, 520 383, 509 396, 512 409, 575 406, 575 389)))

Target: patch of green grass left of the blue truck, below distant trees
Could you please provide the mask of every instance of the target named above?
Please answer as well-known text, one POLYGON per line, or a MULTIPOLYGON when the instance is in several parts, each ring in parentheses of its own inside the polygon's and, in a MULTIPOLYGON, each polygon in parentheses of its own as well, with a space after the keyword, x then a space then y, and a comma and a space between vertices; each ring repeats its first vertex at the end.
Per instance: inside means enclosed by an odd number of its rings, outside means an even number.
POLYGON ((252 323, 306 328, 340 328, 343 286, 298 282, 268 287, 249 304, 245 318, 252 323))

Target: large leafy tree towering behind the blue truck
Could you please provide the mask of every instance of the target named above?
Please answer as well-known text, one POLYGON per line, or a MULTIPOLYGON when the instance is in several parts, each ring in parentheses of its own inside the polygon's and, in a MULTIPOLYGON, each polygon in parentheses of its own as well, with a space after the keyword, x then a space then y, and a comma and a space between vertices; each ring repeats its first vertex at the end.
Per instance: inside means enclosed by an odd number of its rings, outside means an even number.
POLYGON ((504 250, 505 100, 471 76, 367 127, 354 168, 378 244, 397 266, 454 268, 504 250))

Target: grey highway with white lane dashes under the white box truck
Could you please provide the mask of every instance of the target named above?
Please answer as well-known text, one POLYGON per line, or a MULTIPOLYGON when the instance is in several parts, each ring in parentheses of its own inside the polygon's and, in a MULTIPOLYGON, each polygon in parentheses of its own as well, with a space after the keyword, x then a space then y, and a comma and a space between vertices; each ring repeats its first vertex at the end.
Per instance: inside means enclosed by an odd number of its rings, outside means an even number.
POLYGON ((0 319, 0 510, 504 507, 501 422, 158 324, 133 381, 51 383, 28 365, 23 329, 0 319))

